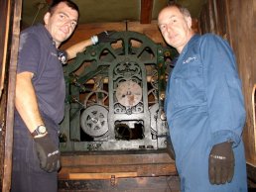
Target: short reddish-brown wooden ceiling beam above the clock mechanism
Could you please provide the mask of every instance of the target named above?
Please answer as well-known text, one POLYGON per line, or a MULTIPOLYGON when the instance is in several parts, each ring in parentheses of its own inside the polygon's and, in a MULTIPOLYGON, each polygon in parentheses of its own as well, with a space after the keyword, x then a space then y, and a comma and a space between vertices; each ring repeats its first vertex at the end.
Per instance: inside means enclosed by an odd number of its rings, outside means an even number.
POLYGON ((154 0, 141 0, 141 24, 150 24, 154 0))

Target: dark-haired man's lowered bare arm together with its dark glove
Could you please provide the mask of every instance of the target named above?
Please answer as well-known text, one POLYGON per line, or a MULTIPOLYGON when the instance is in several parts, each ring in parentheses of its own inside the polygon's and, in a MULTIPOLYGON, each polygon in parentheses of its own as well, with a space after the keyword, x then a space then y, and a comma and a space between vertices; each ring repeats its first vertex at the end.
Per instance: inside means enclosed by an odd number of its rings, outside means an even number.
MULTIPOLYGON (((44 125, 41 118, 37 97, 32 84, 32 72, 21 72, 17 74, 15 105, 17 111, 25 122, 30 133, 33 133, 39 125, 44 125)), ((58 171, 61 167, 60 150, 52 142, 49 134, 36 136, 34 138, 40 167, 47 171, 58 171)))

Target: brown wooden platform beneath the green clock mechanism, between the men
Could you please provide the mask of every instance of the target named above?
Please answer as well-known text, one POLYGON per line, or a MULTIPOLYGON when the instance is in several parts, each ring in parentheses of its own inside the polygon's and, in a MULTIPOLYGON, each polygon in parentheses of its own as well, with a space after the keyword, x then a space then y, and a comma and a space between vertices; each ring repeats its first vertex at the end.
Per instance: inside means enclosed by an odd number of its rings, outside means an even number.
POLYGON ((63 153, 59 192, 180 192, 166 150, 63 153))

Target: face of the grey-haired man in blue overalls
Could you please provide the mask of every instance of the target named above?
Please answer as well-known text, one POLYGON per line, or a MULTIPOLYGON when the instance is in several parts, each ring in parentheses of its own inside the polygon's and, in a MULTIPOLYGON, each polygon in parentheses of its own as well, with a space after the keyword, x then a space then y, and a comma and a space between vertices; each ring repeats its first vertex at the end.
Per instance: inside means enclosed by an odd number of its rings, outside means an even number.
POLYGON ((180 53, 192 38, 192 18, 177 7, 164 8, 158 16, 158 25, 167 44, 180 53))

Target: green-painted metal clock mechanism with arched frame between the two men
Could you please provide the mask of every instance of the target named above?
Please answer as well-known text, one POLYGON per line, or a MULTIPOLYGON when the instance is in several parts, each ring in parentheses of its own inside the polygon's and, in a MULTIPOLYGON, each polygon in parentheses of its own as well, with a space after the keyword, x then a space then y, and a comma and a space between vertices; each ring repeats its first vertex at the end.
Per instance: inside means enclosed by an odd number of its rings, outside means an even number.
POLYGON ((63 151, 166 147, 165 88, 176 52, 137 32, 114 36, 64 67, 63 151))

